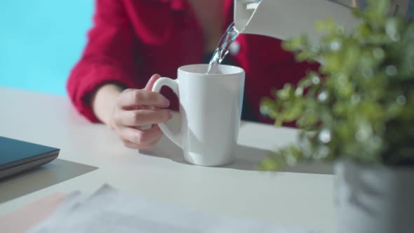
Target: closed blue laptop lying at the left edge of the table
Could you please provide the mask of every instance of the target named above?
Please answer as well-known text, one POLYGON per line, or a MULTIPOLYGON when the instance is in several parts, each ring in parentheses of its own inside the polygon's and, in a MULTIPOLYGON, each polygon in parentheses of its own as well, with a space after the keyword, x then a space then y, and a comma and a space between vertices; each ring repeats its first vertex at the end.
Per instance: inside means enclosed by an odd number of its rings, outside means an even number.
POLYGON ((0 137, 0 179, 47 164, 60 149, 0 137))

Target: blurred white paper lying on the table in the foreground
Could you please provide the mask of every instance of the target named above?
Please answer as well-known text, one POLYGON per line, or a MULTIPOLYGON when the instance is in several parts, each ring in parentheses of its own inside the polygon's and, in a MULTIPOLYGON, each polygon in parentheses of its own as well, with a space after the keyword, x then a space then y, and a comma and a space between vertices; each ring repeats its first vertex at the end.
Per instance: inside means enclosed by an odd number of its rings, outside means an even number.
POLYGON ((312 233, 313 231, 270 225, 256 220, 237 220, 198 213, 124 194, 105 185, 91 197, 79 193, 69 195, 50 218, 29 232, 312 233))

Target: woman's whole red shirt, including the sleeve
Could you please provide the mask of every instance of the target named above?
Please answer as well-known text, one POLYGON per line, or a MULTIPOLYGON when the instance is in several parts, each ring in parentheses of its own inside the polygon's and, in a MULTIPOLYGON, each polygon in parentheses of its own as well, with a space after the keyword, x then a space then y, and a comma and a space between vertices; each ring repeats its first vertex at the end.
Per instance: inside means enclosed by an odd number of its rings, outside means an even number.
MULTIPOLYGON (((223 33, 233 22, 234 0, 224 1, 223 33)), ((257 119, 270 122, 260 115, 260 99, 314 67, 295 62, 273 38, 241 34, 234 43, 229 56, 246 71, 245 98, 257 119)), ((88 43, 67 81, 69 97, 81 114, 98 122, 88 101, 96 88, 106 83, 143 88, 155 73, 175 78, 178 67, 201 63, 203 48, 201 25, 185 0, 97 0, 88 43)), ((163 94, 177 106, 171 91, 163 94)))

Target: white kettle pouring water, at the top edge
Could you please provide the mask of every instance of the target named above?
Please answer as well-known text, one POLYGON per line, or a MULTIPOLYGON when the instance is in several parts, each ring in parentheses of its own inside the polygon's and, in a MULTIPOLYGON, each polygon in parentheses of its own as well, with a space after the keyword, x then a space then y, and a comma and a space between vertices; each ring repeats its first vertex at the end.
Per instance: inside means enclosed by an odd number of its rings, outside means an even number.
MULTIPOLYGON (((235 0, 234 23, 244 34, 260 34, 289 39, 302 33, 316 42, 320 34, 315 22, 332 18, 345 29, 358 20, 352 8, 363 8, 367 0, 235 0)), ((390 13, 413 18, 414 0, 393 0, 390 13)))

